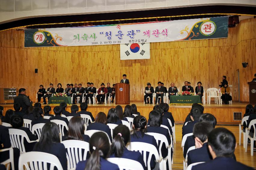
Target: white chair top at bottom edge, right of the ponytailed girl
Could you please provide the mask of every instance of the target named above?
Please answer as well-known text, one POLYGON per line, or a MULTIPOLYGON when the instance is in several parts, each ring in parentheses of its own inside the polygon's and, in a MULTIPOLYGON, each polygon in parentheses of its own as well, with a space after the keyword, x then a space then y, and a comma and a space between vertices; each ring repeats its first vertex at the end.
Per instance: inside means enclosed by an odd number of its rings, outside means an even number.
POLYGON ((107 161, 118 165, 119 169, 143 170, 140 162, 126 158, 108 158, 107 161))

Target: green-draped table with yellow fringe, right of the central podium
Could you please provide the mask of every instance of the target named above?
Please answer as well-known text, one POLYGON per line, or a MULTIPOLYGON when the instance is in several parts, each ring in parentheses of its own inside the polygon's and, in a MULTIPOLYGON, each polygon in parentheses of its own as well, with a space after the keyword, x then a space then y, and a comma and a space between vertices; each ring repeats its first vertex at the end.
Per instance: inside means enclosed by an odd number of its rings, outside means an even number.
POLYGON ((200 96, 170 96, 170 105, 192 105, 202 104, 200 96))

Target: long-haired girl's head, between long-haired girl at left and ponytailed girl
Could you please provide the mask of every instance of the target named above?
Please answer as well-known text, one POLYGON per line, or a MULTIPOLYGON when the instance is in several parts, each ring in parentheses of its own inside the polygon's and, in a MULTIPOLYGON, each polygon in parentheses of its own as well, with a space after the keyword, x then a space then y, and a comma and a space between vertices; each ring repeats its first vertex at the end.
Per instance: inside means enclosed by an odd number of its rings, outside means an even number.
POLYGON ((74 116, 69 120, 69 130, 67 132, 67 140, 80 140, 83 141, 85 131, 85 121, 80 116, 74 116))

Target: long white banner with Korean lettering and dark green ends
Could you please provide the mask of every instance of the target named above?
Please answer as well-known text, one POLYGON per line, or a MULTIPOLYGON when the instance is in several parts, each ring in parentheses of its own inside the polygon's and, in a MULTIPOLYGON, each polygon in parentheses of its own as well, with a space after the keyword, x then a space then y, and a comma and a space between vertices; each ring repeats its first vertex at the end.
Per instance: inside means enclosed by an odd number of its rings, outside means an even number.
POLYGON ((133 44, 227 38, 228 17, 25 29, 25 47, 133 44))

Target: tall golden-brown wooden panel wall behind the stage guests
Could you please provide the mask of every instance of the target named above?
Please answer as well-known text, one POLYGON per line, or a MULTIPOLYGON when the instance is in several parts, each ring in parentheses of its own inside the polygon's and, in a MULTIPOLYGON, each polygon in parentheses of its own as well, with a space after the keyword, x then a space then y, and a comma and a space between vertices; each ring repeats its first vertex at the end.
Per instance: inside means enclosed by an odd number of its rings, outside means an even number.
POLYGON ((233 85, 233 100, 238 101, 236 70, 240 71, 240 100, 248 102, 248 85, 256 73, 256 19, 242 20, 229 28, 228 38, 150 43, 150 58, 120 60, 120 45, 24 48, 24 32, 16 29, 0 32, 0 88, 26 88, 35 102, 39 85, 53 83, 119 83, 127 74, 131 101, 143 101, 150 82, 181 89, 184 81, 198 81, 205 88, 216 87, 223 75, 233 85), (248 62, 242 68, 242 62, 248 62), (35 74, 35 68, 38 73, 35 74))

